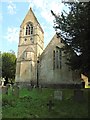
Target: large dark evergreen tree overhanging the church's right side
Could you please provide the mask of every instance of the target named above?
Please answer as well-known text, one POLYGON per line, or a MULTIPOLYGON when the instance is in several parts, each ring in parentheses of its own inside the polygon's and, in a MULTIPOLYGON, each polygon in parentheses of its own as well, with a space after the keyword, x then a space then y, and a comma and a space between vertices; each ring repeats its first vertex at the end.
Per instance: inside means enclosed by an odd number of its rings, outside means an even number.
MULTIPOLYGON (((54 28, 58 37, 63 39, 65 49, 69 53, 68 64, 71 69, 79 69, 90 75, 90 2, 66 3, 69 13, 63 11, 61 16, 56 15, 54 28)), ((64 50, 65 50, 64 49, 64 50)), ((66 53, 66 51, 65 51, 66 53)))

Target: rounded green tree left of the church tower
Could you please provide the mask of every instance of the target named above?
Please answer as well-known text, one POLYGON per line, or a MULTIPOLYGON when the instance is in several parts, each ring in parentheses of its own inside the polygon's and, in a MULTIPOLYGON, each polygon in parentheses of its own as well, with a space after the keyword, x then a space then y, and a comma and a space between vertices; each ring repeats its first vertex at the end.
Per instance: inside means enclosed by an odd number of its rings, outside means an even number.
POLYGON ((13 53, 2 54, 2 77, 15 78, 16 56, 13 53))

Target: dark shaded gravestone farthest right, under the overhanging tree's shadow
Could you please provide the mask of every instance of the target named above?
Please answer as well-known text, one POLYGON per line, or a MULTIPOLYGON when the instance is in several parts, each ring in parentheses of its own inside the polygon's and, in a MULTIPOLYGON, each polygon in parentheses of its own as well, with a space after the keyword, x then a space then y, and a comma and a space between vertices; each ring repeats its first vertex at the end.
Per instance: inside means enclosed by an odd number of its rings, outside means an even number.
POLYGON ((84 101, 84 94, 83 91, 80 89, 76 89, 74 90, 74 96, 73 96, 74 100, 77 102, 81 102, 84 101))

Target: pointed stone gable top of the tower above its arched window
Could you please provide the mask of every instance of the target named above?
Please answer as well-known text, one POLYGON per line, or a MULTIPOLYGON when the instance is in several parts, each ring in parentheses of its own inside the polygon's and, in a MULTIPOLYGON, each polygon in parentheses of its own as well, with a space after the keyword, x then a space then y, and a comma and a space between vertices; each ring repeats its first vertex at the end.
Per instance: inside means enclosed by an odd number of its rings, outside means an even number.
MULTIPOLYGON (((26 16, 25 16, 25 18, 24 18, 21 26, 22 26, 24 23, 26 23, 25 21, 26 21, 27 18, 29 18, 29 20, 31 20, 32 16, 33 16, 33 18, 35 19, 35 21, 36 21, 36 23, 38 24, 38 26, 40 27, 41 31, 44 33, 44 31, 43 31, 40 23, 38 22, 38 20, 37 20, 37 18, 36 18, 36 16, 35 16, 35 14, 34 14, 34 12, 33 12, 33 10, 32 10, 31 7, 30 7, 29 11, 27 12, 27 14, 26 14, 26 16)), ((28 19, 27 19, 27 20, 28 20, 28 19)), ((28 21, 27 21, 27 22, 28 22, 28 21)))

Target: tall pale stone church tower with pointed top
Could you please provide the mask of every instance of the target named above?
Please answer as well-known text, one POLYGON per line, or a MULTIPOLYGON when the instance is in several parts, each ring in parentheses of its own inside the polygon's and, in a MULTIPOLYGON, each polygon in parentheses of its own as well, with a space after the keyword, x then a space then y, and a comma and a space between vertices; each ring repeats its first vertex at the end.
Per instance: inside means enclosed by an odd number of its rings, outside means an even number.
POLYGON ((16 63, 17 83, 37 82, 37 61, 44 49, 44 32, 30 8, 20 26, 16 63))

